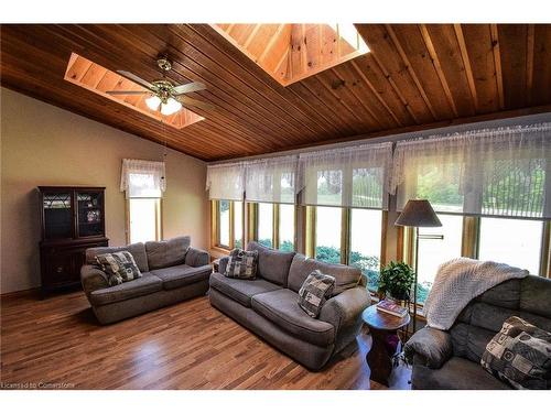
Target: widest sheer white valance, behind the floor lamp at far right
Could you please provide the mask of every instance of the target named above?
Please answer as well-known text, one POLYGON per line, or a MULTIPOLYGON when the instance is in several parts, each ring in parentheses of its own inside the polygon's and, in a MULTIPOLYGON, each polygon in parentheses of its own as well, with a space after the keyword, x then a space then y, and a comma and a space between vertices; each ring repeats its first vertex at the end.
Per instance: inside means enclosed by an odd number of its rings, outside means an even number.
POLYGON ((436 211, 551 218, 551 123, 398 142, 397 209, 428 198, 436 211))

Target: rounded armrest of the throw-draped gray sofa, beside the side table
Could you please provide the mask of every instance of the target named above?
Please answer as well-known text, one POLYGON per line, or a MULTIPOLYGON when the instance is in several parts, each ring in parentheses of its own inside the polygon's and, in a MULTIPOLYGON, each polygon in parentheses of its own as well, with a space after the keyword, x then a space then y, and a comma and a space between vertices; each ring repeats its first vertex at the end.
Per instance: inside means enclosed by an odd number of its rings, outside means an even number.
POLYGON ((447 332, 421 328, 406 343, 403 354, 409 363, 440 369, 452 357, 452 337, 447 332))

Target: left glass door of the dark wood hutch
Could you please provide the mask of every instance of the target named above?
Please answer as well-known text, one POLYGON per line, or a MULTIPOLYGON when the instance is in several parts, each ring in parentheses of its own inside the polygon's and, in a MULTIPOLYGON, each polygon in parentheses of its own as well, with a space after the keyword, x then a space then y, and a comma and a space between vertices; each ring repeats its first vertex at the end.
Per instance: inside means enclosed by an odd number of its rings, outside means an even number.
POLYGON ((44 208, 44 238, 73 238, 73 213, 71 208, 71 191, 45 193, 44 208))

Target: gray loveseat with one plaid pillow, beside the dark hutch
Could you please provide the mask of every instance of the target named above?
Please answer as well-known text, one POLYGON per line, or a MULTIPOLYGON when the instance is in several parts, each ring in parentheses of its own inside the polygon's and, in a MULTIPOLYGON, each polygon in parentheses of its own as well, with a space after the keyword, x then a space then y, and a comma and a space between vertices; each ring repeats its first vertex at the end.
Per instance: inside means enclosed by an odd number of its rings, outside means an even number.
POLYGON ((86 250, 80 281, 99 323, 118 322, 206 294, 213 272, 210 257, 206 251, 191 248, 190 242, 190 237, 179 237, 86 250), (107 275, 95 265, 95 257, 116 251, 129 251, 142 276, 109 286, 107 275))

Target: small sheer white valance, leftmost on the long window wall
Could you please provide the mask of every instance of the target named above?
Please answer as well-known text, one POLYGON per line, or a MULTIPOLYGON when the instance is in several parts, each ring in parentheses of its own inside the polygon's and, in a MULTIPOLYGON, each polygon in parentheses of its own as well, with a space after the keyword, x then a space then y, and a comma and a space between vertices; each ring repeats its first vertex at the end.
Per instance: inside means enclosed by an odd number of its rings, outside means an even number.
POLYGON ((242 200, 245 164, 239 162, 208 165, 206 189, 210 199, 242 200))

